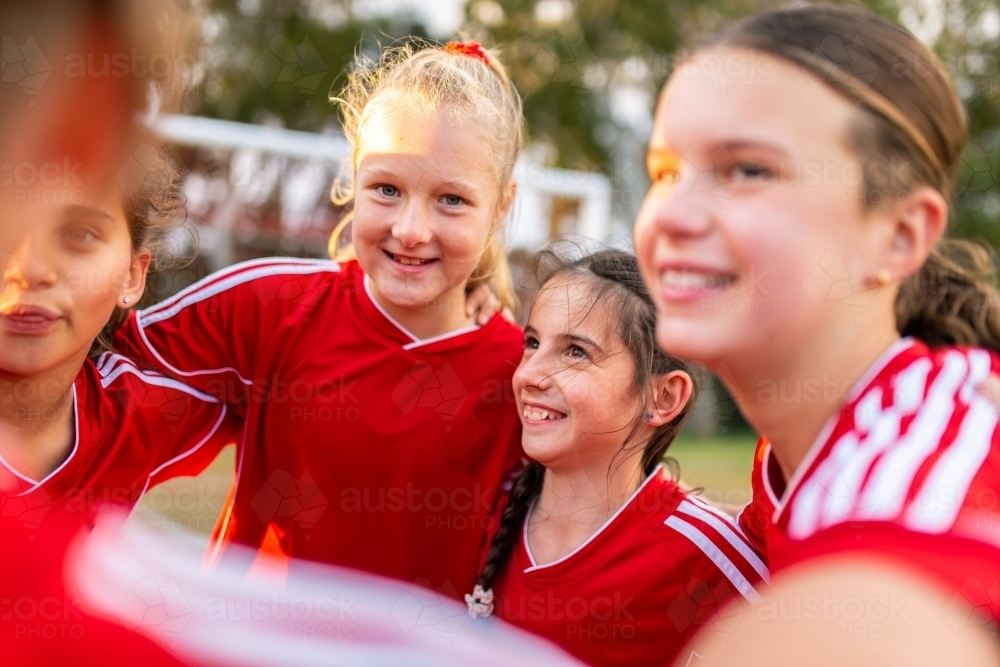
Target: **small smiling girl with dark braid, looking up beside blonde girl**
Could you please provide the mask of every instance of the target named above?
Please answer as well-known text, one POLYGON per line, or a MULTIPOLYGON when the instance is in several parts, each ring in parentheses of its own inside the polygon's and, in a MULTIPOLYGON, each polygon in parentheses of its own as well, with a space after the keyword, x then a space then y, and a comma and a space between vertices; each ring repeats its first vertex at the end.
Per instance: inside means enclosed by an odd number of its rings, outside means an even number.
POLYGON ((734 521, 664 471, 700 373, 657 347, 635 257, 544 252, 538 268, 513 381, 532 462, 469 613, 495 613, 588 664, 667 664, 719 606, 756 600, 767 570, 734 521))

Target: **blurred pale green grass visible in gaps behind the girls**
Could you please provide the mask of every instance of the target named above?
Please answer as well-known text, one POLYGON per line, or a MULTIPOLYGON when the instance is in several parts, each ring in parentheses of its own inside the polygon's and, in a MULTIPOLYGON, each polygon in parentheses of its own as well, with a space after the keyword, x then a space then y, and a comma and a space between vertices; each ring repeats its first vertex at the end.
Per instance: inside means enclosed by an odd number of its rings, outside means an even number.
MULTIPOLYGON (((743 505, 750 499, 755 442, 750 433, 704 439, 681 436, 668 454, 680 465, 681 479, 700 488, 706 500, 743 505)), ((227 447, 198 477, 179 477, 151 489, 133 520, 207 535, 232 483, 234 456, 234 448, 227 447)))

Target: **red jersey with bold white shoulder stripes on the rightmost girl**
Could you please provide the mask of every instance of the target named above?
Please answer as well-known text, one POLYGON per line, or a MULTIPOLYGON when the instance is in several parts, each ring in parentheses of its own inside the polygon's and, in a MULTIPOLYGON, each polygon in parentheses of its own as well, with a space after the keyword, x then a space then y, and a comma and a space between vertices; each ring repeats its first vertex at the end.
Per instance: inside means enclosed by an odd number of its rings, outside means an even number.
POLYGON ((905 338, 886 351, 789 480, 767 532, 773 569, 877 553, 1000 621, 997 373, 982 349, 905 338))

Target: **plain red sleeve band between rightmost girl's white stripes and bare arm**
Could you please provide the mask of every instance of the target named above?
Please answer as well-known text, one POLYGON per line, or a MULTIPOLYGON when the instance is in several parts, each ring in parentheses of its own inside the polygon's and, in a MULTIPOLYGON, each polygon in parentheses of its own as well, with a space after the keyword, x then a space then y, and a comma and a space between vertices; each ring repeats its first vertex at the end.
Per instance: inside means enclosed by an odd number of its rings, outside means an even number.
MULTIPOLYGON (((983 518, 993 523, 1000 516, 983 518)), ((834 554, 889 559, 942 587, 951 603, 1000 623, 1000 540, 996 544, 957 534, 928 535, 890 522, 844 523, 784 549, 775 570, 834 554)))

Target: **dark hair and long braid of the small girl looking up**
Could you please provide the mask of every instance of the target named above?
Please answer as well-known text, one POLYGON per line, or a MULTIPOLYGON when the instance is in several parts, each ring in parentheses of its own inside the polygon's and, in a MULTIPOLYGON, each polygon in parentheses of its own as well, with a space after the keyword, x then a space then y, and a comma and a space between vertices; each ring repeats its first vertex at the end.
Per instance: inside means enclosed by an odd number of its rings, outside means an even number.
MULTIPOLYGON (((692 392, 687 404, 672 421, 657 428, 642 452, 642 471, 650 475, 663 460, 667 447, 683 428, 694 410, 701 391, 704 372, 700 366, 682 361, 665 353, 656 342, 656 311, 642 280, 635 255, 620 250, 601 250, 579 259, 566 259, 556 250, 543 250, 532 261, 535 285, 544 287, 557 276, 578 276, 591 286, 591 307, 598 303, 613 314, 618 335, 635 361, 635 391, 637 405, 650 397, 650 382, 654 377, 675 370, 691 377, 692 392)), ((637 410, 632 428, 624 438, 622 453, 628 453, 628 443, 642 427, 642 408, 637 410)), ((609 471, 610 473, 610 471, 609 471)), ((493 587, 503 574, 524 526, 528 508, 538 497, 545 479, 545 468, 531 462, 514 481, 510 502, 500 519, 500 528, 490 542, 486 564, 477 582, 483 591, 493 587)))

